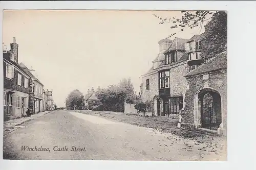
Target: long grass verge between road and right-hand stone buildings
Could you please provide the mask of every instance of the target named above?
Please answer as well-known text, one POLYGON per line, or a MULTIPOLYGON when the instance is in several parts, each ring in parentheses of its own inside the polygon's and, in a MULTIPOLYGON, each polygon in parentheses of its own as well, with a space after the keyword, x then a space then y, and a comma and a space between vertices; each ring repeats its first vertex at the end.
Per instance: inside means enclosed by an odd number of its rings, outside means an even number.
POLYGON ((100 117, 104 117, 106 119, 112 119, 117 122, 123 122, 139 127, 153 128, 157 131, 172 133, 182 138, 190 138, 195 140, 213 140, 214 138, 218 138, 219 135, 207 131, 201 130, 193 130, 190 127, 182 125, 182 128, 177 128, 178 119, 173 117, 165 117, 165 116, 154 116, 154 117, 143 117, 138 116, 137 114, 132 113, 118 113, 111 111, 90 111, 90 110, 75 110, 75 112, 83 113, 83 114, 92 114, 99 115, 100 117))

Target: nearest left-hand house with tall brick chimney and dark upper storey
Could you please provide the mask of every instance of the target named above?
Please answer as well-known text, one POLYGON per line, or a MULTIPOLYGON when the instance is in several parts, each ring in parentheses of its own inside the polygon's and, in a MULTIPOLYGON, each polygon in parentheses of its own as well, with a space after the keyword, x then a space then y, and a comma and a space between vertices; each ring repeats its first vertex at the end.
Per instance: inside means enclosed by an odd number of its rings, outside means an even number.
POLYGON ((3 52, 4 119, 26 115, 30 77, 18 64, 18 44, 13 38, 10 51, 3 52))

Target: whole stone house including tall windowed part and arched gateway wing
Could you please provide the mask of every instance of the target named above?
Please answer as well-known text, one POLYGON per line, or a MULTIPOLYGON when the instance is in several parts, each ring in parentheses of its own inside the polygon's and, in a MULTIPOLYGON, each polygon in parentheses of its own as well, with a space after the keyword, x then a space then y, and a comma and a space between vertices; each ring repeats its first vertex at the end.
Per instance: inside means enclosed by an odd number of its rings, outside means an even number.
POLYGON ((225 135, 226 54, 203 63, 203 39, 160 40, 153 67, 142 76, 141 100, 153 104, 155 115, 181 114, 183 124, 225 135))

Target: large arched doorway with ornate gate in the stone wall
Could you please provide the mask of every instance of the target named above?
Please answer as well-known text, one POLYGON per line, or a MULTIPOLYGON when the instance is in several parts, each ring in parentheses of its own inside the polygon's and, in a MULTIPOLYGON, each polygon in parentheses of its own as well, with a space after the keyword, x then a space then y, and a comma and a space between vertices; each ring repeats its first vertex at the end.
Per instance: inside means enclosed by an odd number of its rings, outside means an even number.
POLYGON ((217 130, 222 122, 221 95, 205 88, 195 95, 195 124, 202 128, 217 130))

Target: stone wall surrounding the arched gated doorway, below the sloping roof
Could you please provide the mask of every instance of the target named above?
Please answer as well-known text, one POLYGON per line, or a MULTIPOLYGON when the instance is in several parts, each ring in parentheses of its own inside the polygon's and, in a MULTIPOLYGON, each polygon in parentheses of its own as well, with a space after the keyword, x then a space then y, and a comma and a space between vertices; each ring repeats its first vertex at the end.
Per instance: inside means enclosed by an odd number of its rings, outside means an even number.
POLYGON ((195 125, 195 94, 204 88, 211 88, 218 91, 221 95, 222 107, 222 126, 223 134, 226 135, 227 129, 227 70, 210 72, 208 79, 203 80, 203 75, 187 78, 189 89, 185 94, 185 107, 182 110, 182 121, 184 124, 195 125))

